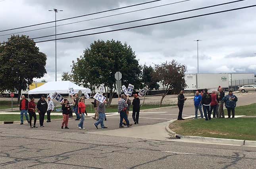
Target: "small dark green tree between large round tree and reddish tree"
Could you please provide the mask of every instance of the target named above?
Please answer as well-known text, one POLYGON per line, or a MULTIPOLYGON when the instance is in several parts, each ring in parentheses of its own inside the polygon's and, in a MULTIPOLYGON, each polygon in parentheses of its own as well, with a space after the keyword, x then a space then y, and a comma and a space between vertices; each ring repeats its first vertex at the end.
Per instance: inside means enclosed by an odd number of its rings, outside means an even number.
MULTIPOLYGON (((143 87, 148 88, 148 90, 159 89, 158 80, 154 78, 154 73, 155 71, 152 66, 147 66, 146 64, 143 65, 141 81, 142 81, 143 87)), ((146 92, 146 94, 147 93, 148 92, 146 92)), ((141 106, 144 105, 146 94, 144 95, 144 100, 141 106)))

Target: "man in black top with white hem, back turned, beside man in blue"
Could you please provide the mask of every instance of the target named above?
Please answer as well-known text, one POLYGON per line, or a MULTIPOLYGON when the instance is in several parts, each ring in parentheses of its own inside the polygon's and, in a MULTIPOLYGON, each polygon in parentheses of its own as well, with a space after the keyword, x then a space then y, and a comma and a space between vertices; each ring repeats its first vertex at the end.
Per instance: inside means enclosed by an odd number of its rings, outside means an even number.
POLYGON ((212 102, 212 96, 208 93, 208 90, 205 88, 204 94, 202 96, 202 105, 203 105, 205 120, 211 119, 211 112, 210 112, 211 102, 212 102))

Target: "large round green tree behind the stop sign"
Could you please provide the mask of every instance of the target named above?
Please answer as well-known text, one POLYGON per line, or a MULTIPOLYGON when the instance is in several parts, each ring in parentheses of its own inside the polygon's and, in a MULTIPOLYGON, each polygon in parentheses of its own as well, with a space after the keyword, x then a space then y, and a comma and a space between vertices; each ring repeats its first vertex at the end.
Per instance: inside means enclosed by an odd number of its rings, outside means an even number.
POLYGON ((139 88, 140 68, 131 46, 115 40, 98 40, 90 44, 76 62, 73 61, 72 75, 74 82, 91 89, 103 84, 110 106, 116 90, 115 72, 122 73, 122 85, 131 83, 139 88))

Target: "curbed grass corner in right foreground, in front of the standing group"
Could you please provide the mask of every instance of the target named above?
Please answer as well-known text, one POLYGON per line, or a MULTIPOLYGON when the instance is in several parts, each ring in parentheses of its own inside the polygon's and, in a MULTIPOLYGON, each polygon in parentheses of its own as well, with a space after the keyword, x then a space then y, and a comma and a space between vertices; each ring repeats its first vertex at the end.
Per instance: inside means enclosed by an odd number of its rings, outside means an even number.
POLYGON ((256 118, 235 119, 189 119, 175 121, 170 129, 184 136, 204 136, 232 138, 239 140, 256 140, 256 118))

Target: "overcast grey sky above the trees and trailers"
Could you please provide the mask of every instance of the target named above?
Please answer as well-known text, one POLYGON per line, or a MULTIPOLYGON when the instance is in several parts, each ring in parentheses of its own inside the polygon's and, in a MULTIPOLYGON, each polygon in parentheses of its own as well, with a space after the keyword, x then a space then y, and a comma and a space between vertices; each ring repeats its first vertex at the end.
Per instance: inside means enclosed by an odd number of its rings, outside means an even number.
MULTIPOLYGON (((140 2, 150 0, 0 0, 0 30, 21 27, 35 23, 42 23, 54 20, 54 12, 48 12, 53 8, 64 10, 57 13, 57 19, 84 15, 87 13, 110 10, 140 2)), ((69 19, 57 22, 57 25, 102 17, 116 13, 129 12, 152 6, 158 6, 177 2, 180 0, 162 0, 150 4, 144 4, 136 7, 115 10, 112 12, 100 13, 76 19, 69 19)), ((81 23, 57 27, 57 33, 87 29, 102 25, 109 25, 145 17, 164 15, 183 10, 190 10, 204 6, 210 6, 232 0, 190 0, 179 4, 144 10, 139 12, 127 13, 123 15, 108 17, 104 19, 95 19, 81 23)), ((82 35, 98 31, 106 31, 189 17, 204 13, 239 8, 256 4, 255 0, 245 0, 225 6, 197 10, 183 14, 171 15, 156 19, 149 19, 136 23, 118 25, 114 27, 83 31, 79 33, 60 35, 58 37, 82 35)), ((0 35, 15 33, 42 27, 53 26, 54 23, 17 29, 13 31, 1 32, 0 35)), ((20 35, 29 35, 31 38, 52 35, 54 28, 43 29, 21 33, 20 35)), ((10 37, 0 36, 0 41, 7 40, 10 37)), ((41 38, 38 40, 52 39, 53 37, 41 38)), ((256 8, 246 8, 215 15, 105 33, 92 36, 82 36, 79 38, 70 38, 57 41, 57 73, 58 80, 64 71, 71 71, 72 60, 76 60, 83 54, 83 50, 88 48, 94 40, 120 40, 131 45, 140 64, 147 65, 159 64, 165 61, 177 60, 179 63, 187 65, 187 73, 196 73, 197 71, 197 46, 193 40, 200 39, 199 42, 199 73, 256 73, 256 8)), ((46 81, 55 79, 55 43, 38 43, 40 51, 47 56, 46 71, 47 74, 41 78, 46 81)), ((37 79, 40 81, 40 79, 37 79)))

